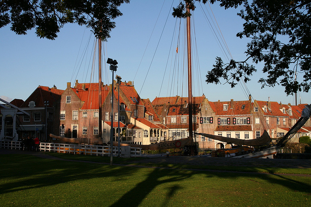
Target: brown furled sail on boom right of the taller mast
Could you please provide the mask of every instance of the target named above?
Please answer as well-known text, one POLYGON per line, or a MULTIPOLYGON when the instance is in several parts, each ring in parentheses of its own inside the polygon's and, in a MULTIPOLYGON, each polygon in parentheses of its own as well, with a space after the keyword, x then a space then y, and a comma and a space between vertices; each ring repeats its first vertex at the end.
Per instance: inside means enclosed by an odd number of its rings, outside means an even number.
POLYGON ((228 138, 228 137, 222 137, 222 136, 217 136, 217 135, 212 135, 212 134, 205 134, 205 133, 194 133, 194 134, 199 134, 214 140, 218 140, 221 142, 225 143, 230 143, 230 144, 237 144, 237 145, 246 145, 246 146, 258 146, 258 145, 265 145, 269 144, 271 142, 271 138, 268 134, 268 132, 265 130, 263 134, 253 140, 242 140, 242 139, 236 139, 236 138, 228 138))

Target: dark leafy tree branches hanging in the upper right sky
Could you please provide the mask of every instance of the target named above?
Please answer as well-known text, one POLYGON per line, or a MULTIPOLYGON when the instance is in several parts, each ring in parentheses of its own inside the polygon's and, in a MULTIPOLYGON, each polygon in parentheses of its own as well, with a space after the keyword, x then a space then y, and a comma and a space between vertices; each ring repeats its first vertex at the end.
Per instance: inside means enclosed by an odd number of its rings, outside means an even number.
MULTIPOLYGON (((201 1, 201 0, 198 0, 201 1)), ((250 80, 256 72, 253 63, 264 64, 262 71, 266 78, 260 78, 261 87, 281 84, 287 95, 298 91, 309 92, 311 88, 311 2, 310 0, 209 0, 220 2, 220 6, 243 9, 238 13, 245 23, 243 31, 237 37, 251 38, 247 44, 246 58, 243 61, 231 60, 224 64, 217 57, 216 63, 207 71, 207 83, 220 83, 221 79, 232 87, 237 81, 250 80), (302 74, 303 80, 295 79, 302 74)), ((206 0, 202 0, 206 3, 206 0)), ((186 0, 194 10, 194 1, 186 0)), ((186 4, 180 3, 174 8, 173 16, 186 17, 182 9, 186 4)))

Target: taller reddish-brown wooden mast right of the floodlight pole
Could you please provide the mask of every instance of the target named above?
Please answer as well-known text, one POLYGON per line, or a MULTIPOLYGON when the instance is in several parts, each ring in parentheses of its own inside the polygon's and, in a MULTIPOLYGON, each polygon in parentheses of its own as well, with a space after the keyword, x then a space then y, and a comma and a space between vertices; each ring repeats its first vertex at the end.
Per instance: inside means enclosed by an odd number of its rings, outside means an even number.
POLYGON ((191 31, 190 31, 190 9, 186 4, 187 13, 187 50, 188 50, 188 106, 189 106, 189 136, 192 138, 192 74, 191 74, 191 31))

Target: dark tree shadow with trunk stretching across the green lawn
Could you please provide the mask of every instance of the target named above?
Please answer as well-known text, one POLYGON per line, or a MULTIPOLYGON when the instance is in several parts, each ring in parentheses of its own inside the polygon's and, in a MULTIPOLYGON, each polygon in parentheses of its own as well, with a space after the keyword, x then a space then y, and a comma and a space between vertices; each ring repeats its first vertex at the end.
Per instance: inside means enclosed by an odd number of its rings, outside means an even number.
MULTIPOLYGON (((139 167, 109 166, 101 163, 85 163, 72 161, 59 161, 52 159, 40 159, 31 155, 1 155, 0 180, 6 178, 15 178, 15 182, 1 182, 0 194, 29 190, 45 186, 57 185, 59 183, 75 181, 79 179, 107 178, 110 179, 129 179, 131 176, 139 176, 139 167), (37 173, 39 172, 39 173, 37 173), (136 175, 135 175, 136 174, 136 175), (25 179, 25 177, 27 179, 25 179)), ((122 196, 111 205, 111 207, 120 206, 139 206, 148 196, 162 184, 165 186, 163 191, 158 194, 163 197, 166 193, 166 199, 157 206, 170 205, 170 198, 180 190, 187 188, 187 184, 182 181, 189 181, 194 175, 199 175, 202 182, 207 178, 220 177, 232 179, 239 176, 246 177, 254 182, 252 188, 260 188, 257 178, 264 179, 271 184, 277 184, 293 191, 310 193, 311 185, 306 182, 299 182, 291 179, 289 176, 270 175, 270 174, 245 174, 239 172, 209 172, 204 170, 183 170, 167 168, 151 168, 150 173, 143 180, 139 181, 131 190, 122 194, 122 196), (185 184, 185 185, 184 185, 185 184), (258 185, 258 186, 257 186, 258 185)), ((197 176, 195 177, 197 179, 197 176)))

